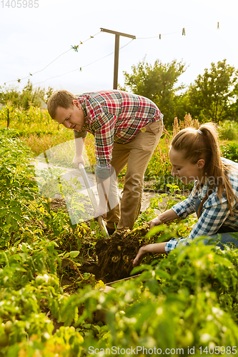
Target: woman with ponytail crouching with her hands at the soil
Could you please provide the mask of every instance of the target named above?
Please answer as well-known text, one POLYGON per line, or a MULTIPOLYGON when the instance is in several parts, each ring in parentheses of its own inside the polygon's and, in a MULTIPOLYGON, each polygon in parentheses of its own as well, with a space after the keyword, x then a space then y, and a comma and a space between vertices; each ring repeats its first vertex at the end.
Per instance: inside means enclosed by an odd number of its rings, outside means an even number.
POLYGON ((203 124, 199 130, 179 131, 172 139, 169 159, 172 175, 179 176, 184 184, 194 181, 194 188, 189 198, 149 221, 150 228, 186 218, 195 211, 198 221, 187 238, 142 246, 134 265, 147 253, 169 253, 178 244, 187 245, 189 240, 199 236, 215 238, 217 233, 222 235, 221 243, 232 242, 238 248, 237 239, 229 234, 238 233, 238 164, 220 157, 214 124, 203 124))

